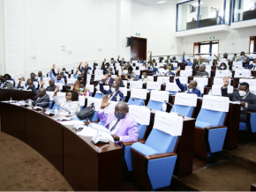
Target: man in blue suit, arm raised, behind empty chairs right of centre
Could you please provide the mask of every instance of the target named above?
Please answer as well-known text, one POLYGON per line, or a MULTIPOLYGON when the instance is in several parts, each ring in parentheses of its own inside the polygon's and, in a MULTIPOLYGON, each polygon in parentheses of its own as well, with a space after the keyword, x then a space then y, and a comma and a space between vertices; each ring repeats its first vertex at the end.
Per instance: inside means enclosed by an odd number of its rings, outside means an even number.
MULTIPOLYGON (((176 76, 178 77, 179 67, 176 70, 176 76)), ((199 89, 197 89, 198 83, 196 81, 191 81, 187 86, 184 86, 180 83, 179 78, 176 78, 176 84, 180 88, 181 92, 185 93, 193 93, 197 94, 198 97, 201 96, 201 92, 199 89)))

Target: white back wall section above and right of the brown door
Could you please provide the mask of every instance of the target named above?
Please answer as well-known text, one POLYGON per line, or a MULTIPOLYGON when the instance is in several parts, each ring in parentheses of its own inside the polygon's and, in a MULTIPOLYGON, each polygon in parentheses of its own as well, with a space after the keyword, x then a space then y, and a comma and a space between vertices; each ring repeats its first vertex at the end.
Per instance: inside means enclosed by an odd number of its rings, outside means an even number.
MULTIPOLYGON (((153 55, 176 55, 181 39, 175 37, 176 4, 144 6, 132 3, 132 36, 147 38, 147 51, 153 55)), ((148 56, 148 55, 147 55, 148 56)))

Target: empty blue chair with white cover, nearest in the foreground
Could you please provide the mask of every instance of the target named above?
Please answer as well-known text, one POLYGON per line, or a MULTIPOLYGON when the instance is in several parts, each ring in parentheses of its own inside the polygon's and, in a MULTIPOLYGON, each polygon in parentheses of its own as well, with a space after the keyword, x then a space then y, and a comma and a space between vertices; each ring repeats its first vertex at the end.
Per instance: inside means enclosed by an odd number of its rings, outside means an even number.
POLYGON ((166 123, 173 121, 183 124, 182 117, 157 111, 154 116, 154 128, 146 143, 137 142, 131 146, 133 179, 146 190, 169 186, 177 160, 175 149, 178 136, 164 131, 171 130, 171 126, 166 124, 163 128, 160 123, 163 119, 166 123), (166 119, 169 119, 169 122, 166 119))

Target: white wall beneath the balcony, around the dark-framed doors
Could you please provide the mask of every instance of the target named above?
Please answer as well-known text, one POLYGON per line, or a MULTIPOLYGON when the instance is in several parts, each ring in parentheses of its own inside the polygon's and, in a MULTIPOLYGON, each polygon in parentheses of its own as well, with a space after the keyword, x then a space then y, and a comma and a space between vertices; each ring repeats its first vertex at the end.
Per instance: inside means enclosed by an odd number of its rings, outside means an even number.
MULTIPOLYGON (((252 28, 243 28, 223 33, 209 33, 181 38, 183 39, 182 49, 187 54, 193 53, 193 43, 201 41, 211 41, 210 37, 215 36, 219 41, 219 53, 240 53, 241 51, 249 52, 250 36, 256 35, 256 26, 252 28)), ((181 54, 181 53, 180 53, 181 54)))

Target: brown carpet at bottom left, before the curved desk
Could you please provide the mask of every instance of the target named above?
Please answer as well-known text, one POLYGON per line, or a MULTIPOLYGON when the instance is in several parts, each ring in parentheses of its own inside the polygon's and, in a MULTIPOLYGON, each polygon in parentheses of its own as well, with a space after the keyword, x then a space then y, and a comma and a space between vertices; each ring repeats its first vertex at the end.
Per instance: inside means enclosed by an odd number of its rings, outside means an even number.
POLYGON ((0 191, 73 190, 41 154, 1 131, 0 159, 0 191))

